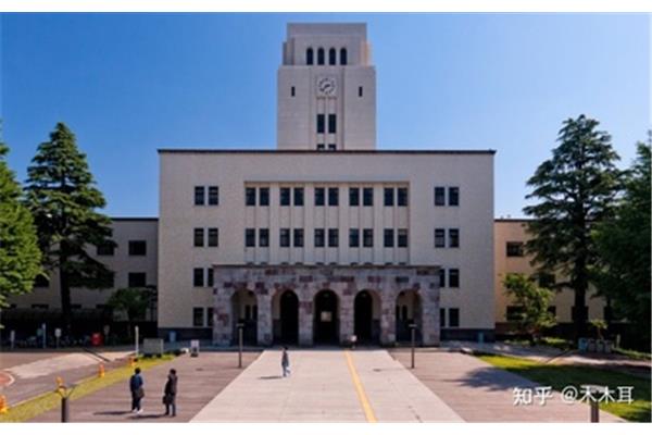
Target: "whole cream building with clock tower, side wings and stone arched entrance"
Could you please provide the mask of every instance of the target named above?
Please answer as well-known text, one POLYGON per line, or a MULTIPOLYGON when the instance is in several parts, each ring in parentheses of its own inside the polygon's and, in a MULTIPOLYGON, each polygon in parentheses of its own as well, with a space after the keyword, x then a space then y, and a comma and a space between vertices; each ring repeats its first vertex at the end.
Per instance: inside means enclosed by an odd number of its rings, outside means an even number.
MULTIPOLYGON (((531 271, 510 256, 522 223, 494 223, 493 157, 377 149, 366 25, 289 24, 276 149, 159 150, 159 217, 113 220, 117 248, 90 253, 114 287, 74 289, 74 308, 154 286, 165 338, 392 345, 414 326, 424 345, 490 340, 513 311, 502 276, 531 271)), ((10 303, 57 309, 57 276, 10 303)))

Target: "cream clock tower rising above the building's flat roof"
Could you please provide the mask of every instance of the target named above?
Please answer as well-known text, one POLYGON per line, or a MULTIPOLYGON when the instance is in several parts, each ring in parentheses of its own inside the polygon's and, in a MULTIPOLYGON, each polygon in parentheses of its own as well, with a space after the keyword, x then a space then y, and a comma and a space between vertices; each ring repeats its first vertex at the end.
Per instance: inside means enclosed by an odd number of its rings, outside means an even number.
POLYGON ((289 24, 277 92, 278 149, 376 148, 376 71, 365 24, 289 24))

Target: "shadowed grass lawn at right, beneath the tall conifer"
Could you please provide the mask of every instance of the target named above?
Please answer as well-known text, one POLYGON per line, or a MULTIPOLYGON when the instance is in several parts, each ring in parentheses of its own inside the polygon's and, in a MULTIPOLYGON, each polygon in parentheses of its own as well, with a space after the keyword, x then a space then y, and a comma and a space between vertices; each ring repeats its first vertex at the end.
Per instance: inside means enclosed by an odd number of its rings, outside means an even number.
POLYGON ((652 412, 650 380, 584 365, 542 364, 523 358, 492 355, 484 355, 478 358, 541 385, 550 385, 557 391, 561 391, 567 385, 574 385, 579 388, 580 385, 599 384, 609 386, 610 389, 615 389, 618 386, 632 386, 635 400, 631 403, 602 402, 600 403, 600 409, 625 420, 650 422, 650 413, 652 412))

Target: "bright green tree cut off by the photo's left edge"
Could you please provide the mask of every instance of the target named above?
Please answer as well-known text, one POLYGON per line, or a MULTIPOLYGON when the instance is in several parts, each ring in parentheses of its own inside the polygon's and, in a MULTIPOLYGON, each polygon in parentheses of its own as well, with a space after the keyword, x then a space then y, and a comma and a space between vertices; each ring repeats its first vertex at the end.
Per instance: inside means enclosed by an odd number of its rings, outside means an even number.
POLYGON ((0 139, 0 308, 10 295, 32 291, 41 273, 34 220, 21 202, 21 186, 7 164, 8 152, 0 139))

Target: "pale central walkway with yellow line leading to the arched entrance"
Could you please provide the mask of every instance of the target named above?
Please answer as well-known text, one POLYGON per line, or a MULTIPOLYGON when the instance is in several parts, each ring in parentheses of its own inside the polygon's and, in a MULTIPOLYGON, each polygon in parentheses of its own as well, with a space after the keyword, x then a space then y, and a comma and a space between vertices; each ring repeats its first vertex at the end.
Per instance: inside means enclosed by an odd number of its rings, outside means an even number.
POLYGON ((266 350, 193 422, 462 421, 386 350, 266 350))

